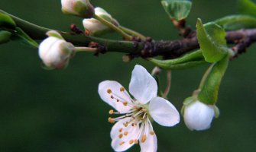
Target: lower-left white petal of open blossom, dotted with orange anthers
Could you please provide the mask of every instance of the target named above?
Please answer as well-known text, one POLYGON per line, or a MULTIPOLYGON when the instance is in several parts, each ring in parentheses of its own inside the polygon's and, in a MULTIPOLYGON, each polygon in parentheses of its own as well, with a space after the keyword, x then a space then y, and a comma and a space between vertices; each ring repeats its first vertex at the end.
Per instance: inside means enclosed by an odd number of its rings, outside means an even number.
POLYGON ((134 139, 138 137, 139 126, 132 126, 131 123, 127 127, 123 125, 125 122, 129 122, 131 117, 125 118, 117 122, 111 131, 112 138, 112 148, 115 151, 125 151, 128 150, 132 145, 134 145, 134 139), (128 134, 126 134, 128 133, 128 134), (130 141, 132 141, 130 143, 130 141))

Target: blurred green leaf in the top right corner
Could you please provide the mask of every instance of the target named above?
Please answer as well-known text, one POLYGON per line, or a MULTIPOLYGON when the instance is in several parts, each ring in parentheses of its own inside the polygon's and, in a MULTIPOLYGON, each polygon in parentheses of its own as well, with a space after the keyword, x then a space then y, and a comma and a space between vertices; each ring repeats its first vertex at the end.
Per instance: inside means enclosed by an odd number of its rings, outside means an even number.
POLYGON ((238 11, 256 17, 256 4, 251 0, 238 0, 238 11))

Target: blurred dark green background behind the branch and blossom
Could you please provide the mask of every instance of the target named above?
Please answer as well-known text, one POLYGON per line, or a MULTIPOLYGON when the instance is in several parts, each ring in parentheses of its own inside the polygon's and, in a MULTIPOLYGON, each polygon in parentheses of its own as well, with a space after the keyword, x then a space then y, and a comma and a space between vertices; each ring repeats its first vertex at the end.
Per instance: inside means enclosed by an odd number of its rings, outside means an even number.
MULTIPOLYGON (((179 38, 157 0, 92 0, 105 8, 122 25, 155 40, 179 38)), ((69 30, 71 23, 81 27, 78 17, 63 15, 60 1, 1 0, 1 9, 18 17, 58 30, 69 30)), ((196 18, 204 23, 235 14, 234 0, 194 0, 188 23, 196 18)), ((115 34, 108 36, 119 38, 115 34)), ((232 61, 219 93, 219 119, 207 131, 190 131, 183 123, 164 128, 154 123, 158 151, 255 151, 256 150, 256 47, 232 61)), ((20 43, 0 46, 0 151, 1 152, 102 152, 112 151, 107 121, 110 106, 99 99, 97 87, 104 80, 115 80, 128 88, 134 65, 154 68, 134 59, 122 62, 122 54, 95 57, 77 53, 68 68, 46 71, 41 68, 37 49, 20 43)), ((206 66, 173 71, 169 99, 180 109, 199 84, 206 66)), ((164 82, 164 73, 162 74, 164 82)), ((138 151, 135 146, 129 151, 138 151)))

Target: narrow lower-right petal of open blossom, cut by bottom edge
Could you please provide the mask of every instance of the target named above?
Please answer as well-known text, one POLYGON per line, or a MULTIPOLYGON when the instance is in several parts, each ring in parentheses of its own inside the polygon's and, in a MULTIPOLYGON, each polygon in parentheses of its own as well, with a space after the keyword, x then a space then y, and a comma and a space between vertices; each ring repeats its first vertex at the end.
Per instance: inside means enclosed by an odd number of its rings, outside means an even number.
MULTIPOLYGON (((149 122, 151 123, 151 122, 149 122)), ((157 135, 151 135, 150 132, 153 131, 153 127, 150 124, 149 125, 149 133, 147 134, 147 139, 144 142, 141 142, 140 138, 140 146, 141 146, 141 152, 156 152, 157 151, 157 135)))

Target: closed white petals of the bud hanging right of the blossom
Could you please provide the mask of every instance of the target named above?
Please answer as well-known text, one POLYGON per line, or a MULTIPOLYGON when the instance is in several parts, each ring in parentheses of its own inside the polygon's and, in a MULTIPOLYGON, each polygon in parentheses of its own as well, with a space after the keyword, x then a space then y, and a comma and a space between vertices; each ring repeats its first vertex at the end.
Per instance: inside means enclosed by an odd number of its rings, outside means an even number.
POLYGON ((190 130, 205 130, 210 127, 214 117, 213 106, 196 101, 184 109, 184 121, 190 130))

